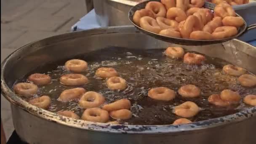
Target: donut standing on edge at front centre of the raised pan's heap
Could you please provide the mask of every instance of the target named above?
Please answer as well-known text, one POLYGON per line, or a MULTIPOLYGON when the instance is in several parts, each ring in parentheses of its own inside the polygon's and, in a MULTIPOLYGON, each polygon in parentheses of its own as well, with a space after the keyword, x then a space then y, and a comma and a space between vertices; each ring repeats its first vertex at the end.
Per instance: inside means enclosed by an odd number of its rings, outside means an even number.
POLYGON ((188 16, 186 21, 184 22, 183 27, 180 30, 181 36, 183 38, 189 38, 191 32, 193 32, 194 28, 201 29, 200 21, 196 16, 188 16))

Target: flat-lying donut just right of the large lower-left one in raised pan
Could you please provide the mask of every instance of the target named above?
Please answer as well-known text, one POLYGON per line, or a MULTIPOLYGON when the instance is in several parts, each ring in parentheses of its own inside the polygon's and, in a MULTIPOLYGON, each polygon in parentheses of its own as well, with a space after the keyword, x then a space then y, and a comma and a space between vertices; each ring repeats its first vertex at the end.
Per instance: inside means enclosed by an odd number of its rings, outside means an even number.
POLYGON ((173 28, 173 29, 178 30, 179 23, 177 21, 174 21, 171 19, 166 19, 163 17, 157 17, 156 20, 161 29, 173 28))

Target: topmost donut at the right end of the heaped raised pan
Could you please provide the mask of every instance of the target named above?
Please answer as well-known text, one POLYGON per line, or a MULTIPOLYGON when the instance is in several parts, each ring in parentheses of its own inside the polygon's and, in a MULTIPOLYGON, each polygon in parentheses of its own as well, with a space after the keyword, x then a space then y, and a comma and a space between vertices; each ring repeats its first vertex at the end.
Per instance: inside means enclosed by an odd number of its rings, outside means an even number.
POLYGON ((214 16, 220 16, 223 19, 226 16, 236 16, 236 13, 230 5, 217 5, 214 8, 214 16))

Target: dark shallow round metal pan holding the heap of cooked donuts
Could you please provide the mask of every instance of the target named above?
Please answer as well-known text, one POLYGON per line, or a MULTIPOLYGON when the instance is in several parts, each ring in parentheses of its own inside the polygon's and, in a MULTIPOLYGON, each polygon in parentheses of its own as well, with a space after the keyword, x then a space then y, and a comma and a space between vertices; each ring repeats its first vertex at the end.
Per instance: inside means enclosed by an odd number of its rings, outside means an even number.
MULTIPOLYGON (((149 1, 146 1, 146 2, 143 2, 143 3, 139 3, 135 6, 133 6, 129 13, 128 13, 128 18, 129 20, 131 21, 131 23, 137 28, 139 29, 141 32, 144 32, 145 34, 147 35, 150 35, 152 37, 155 37, 156 39, 159 39, 159 40, 163 40, 163 41, 166 41, 166 42, 169 42, 169 43, 176 43, 176 44, 181 44, 181 45, 209 45, 209 44, 215 44, 215 43, 223 43, 223 42, 226 42, 228 40, 232 40, 240 35, 242 35, 246 30, 249 30, 249 29, 252 29, 252 28, 256 28, 256 24, 252 24, 250 25, 249 27, 247 27, 247 24, 246 22, 244 23, 244 25, 242 27, 240 27, 238 29, 238 33, 237 35, 234 35, 233 37, 227 37, 227 38, 224 38, 224 39, 219 39, 219 40, 192 40, 192 39, 185 39, 185 38, 177 38, 177 37, 167 37, 167 36, 163 36, 163 35, 159 35, 157 33, 154 33, 154 32, 149 32, 145 29, 142 29, 141 27, 137 26, 134 21, 133 21, 133 15, 134 13, 137 11, 137 10, 140 10, 140 9, 143 9, 145 8, 146 4, 150 1, 158 1, 160 2, 160 0, 149 0, 149 1)), ((211 9, 213 10, 214 7, 215 7, 215 4, 213 3, 208 3, 208 2, 205 2, 205 5, 203 6, 204 8, 208 8, 208 9, 211 9)), ((240 16, 237 14, 237 16, 240 16)), ((241 16, 240 16, 241 17, 241 16)))

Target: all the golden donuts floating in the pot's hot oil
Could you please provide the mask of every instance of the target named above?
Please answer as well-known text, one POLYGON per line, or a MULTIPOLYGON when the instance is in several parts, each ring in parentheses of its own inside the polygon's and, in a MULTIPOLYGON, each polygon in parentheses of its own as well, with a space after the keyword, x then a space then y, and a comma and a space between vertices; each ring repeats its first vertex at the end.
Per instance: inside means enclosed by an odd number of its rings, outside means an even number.
MULTIPOLYGON (((185 64, 201 65, 206 60, 205 56, 196 53, 184 52, 181 47, 168 47, 165 55, 169 59, 183 59, 185 64)), ((82 119, 98 123, 119 124, 119 120, 128 120, 133 114, 131 112, 131 101, 128 99, 119 99, 108 103, 105 97, 96 91, 86 91, 85 88, 79 86, 90 83, 88 78, 79 72, 88 69, 86 61, 80 59, 72 59, 65 63, 65 68, 70 72, 59 78, 62 85, 77 86, 77 88, 66 89, 59 95, 58 100, 61 102, 78 101, 77 105, 84 109, 83 115, 79 117, 75 112, 61 110, 59 115, 82 119), (111 118, 112 119, 111 119, 111 118), (115 121, 111 121, 111 120, 115 121)), ((256 86, 256 76, 247 74, 247 71, 241 67, 227 64, 223 67, 223 72, 227 75, 238 77, 238 82, 243 87, 256 86)), ((128 86, 126 80, 118 77, 118 72, 112 67, 100 67, 95 72, 95 77, 100 80, 106 80, 106 87, 111 91, 125 90, 128 86)), ((29 75, 27 83, 17 83, 13 86, 13 90, 19 96, 31 98, 29 103, 42 109, 48 109, 51 106, 51 97, 43 95, 37 96, 38 86, 48 85, 51 83, 51 77, 46 74, 35 73, 29 75)), ((183 85, 177 91, 179 96, 189 99, 200 97, 201 89, 196 85, 183 85)), ((170 88, 157 87, 148 91, 148 97, 158 101, 172 101, 176 97, 176 92, 170 88)), ((208 102, 218 107, 229 107, 233 104, 241 102, 239 93, 226 89, 221 93, 214 93, 208 97, 208 102)), ((256 106, 256 95, 250 94, 243 99, 245 104, 256 106)), ((192 101, 186 101, 173 108, 173 113, 182 117, 173 122, 174 125, 192 123, 187 118, 197 115, 200 107, 192 101)))

